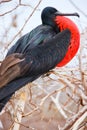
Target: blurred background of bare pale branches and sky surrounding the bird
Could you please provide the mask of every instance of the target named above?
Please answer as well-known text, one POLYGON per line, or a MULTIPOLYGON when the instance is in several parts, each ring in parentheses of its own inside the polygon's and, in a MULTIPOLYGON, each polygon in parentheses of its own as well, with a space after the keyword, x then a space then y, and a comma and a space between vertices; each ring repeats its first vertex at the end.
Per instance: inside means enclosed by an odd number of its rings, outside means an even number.
MULTIPOLYGON (((44 2, 0 0, 0 62, 18 38, 41 23, 44 2)), ((87 12, 69 2, 87 19, 87 12)), ((87 130, 87 23, 74 20, 81 32, 75 58, 17 91, 0 113, 0 130, 87 130)))

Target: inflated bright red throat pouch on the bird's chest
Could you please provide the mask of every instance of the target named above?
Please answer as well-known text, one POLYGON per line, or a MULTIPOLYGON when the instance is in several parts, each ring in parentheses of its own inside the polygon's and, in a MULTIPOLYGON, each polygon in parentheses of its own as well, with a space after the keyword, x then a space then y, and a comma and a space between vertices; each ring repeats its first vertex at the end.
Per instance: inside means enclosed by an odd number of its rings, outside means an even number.
POLYGON ((63 16, 57 16, 55 22, 60 29, 60 32, 69 29, 71 32, 70 45, 64 59, 57 65, 58 67, 66 65, 77 53, 80 45, 80 33, 75 23, 63 16))

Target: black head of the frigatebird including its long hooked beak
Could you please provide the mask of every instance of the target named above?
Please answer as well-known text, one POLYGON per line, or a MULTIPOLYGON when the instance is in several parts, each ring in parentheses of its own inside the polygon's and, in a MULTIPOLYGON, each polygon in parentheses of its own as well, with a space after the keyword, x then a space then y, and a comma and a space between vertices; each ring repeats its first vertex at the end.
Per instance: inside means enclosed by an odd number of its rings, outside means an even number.
POLYGON ((78 13, 71 13, 71 14, 61 13, 60 11, 58 11, 57 9, 53 7, 46 7, 43 9, 41 13, 42 24, 55 27, 56 25, 55 18, 57 16, 78 16, 79 17, 79 14, 78 13))

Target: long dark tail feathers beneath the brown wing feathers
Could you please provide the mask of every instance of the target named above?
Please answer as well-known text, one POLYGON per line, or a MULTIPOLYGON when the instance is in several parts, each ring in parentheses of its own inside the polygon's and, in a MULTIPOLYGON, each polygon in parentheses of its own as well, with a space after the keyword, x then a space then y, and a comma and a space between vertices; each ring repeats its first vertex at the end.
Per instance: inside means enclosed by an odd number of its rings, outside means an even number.
POLYGON ((20 89, 22 86, 26 85, 29 82, 37 79, 39 76, 33 77, 25 77, 20 78, 12 81, 11 83, 7 84, 3 88, 0 88, 0 111, 3 109, 5 104, 9 101, 13 93, 20 89))

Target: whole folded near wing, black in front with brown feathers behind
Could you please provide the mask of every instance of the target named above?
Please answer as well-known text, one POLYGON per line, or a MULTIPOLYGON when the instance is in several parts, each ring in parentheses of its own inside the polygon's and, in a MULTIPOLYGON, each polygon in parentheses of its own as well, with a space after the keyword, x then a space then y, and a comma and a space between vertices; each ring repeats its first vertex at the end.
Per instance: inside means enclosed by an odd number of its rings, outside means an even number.
POLYGON ((53 69, 65 56, 70 41, 70 32, 65 30, 40 44, 26 54, 14 53, 5 58, 0 66, 0 88, 12 80, 42 75, 53 69))

